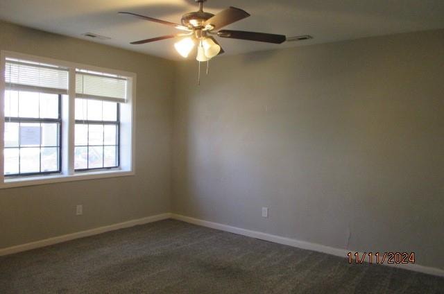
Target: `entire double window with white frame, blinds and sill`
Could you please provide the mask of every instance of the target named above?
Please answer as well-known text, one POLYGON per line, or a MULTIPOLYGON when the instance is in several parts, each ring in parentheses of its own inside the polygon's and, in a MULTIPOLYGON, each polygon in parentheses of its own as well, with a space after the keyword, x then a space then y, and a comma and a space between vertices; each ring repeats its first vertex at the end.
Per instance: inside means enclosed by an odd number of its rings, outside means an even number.
POLYGON ((1 69, 0 188, 133 174, 135 74, 6 51, 1 69))

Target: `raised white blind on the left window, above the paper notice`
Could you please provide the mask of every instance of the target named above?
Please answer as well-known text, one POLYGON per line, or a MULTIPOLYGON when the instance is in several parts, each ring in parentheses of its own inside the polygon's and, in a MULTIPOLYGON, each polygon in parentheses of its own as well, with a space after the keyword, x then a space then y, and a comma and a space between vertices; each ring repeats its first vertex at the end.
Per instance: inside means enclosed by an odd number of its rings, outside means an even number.
POLYGON ((5 82, 6 90, 67 94, 68 69, 6 59, 5 82))

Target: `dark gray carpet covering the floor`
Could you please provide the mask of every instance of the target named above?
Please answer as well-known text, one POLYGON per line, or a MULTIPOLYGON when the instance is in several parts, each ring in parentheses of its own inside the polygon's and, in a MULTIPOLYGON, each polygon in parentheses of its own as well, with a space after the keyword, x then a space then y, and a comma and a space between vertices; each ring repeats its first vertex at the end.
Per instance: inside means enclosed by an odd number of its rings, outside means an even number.
POLYGON ((444 293, 444 278, 163 220, 0 257, 0 293, 444 293))

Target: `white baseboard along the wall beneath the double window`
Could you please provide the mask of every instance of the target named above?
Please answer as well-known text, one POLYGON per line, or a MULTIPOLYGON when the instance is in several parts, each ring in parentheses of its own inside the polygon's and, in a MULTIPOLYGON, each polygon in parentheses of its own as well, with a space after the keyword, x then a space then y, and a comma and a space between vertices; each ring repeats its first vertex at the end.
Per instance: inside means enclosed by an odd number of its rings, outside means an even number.
POLYGON ((31 243, 26 243, 26 244, 22 244, 22 245, 15 245, 15 246, 8 247, 8 248, 0 248, 0 256, 13 254, 13 253, 17 253, 17 252, 22 252, 22 251, 26 251, 26 250, 31 250, 31 249, 35 249, 35 248, 45 247, 45 246, 49 246, 49 245, 54 245, 57 243, 62 243, 62 242, 66 242, 66 241, 70 241, 70 240, 74 240, 74 239, 79 239, 79 238, 83 238, 83 237, 87 237, 87 236, 102 234, 102 233, 110 232, 110 231, 114 231, 114 230, 120 230, 120 229, 124 229, 126 227, 134 227, 135 225, 144 225, 146 223, 153 223, 155 221, 165 220, 168 218, 171 218, 171 214, 169 214, 169 213, 157 214, 156 216, 148 216, 146 218, 139 218, 137 220, 128 220, 126 222, 116 223, 114 225, 105 225, 104 227, 96 227, 94 229, 86 230, 86 231, 82 231, 82 232, 76 232, 76 233, 62 235, 62 236, 56 236, 53 238, 35 241, 35 242, 31 242, 31 243))

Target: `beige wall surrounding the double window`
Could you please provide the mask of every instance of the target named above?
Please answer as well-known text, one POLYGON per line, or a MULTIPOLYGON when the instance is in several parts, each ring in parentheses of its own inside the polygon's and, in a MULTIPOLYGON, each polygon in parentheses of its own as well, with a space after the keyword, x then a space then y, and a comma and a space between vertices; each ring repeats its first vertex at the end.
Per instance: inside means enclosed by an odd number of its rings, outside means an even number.
POLYGON ((0 50, 132 71, 139 81, 136 175, 1 189, 0 248, 170 211, 174 62, 4 22, 0 50))

